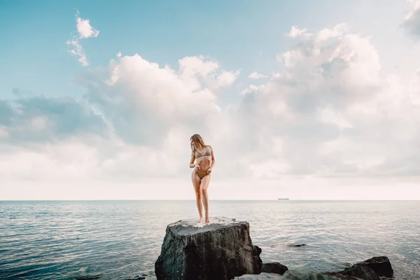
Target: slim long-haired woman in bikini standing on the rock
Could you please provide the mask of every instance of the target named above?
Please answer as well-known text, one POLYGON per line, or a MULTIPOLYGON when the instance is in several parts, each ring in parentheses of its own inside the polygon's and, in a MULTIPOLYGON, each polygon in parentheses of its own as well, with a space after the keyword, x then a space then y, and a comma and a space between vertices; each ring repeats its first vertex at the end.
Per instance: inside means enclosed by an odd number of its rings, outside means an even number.
POLYGON ((211 146, 204 144, 202 137, 199 134, 194 134, 191 138, 191 161, 190 168, 194 168, 191 174, 191 180, 197 198, 198 214, 200 214, 199 223, 203 221, 203 207, 205 211, 205 222, 210 223, 209 220, 209 196, 207 195, 207 188, 210 183, 211 169, 214 167, 214 153, 211 146), (196 163, 194 163, 196 161, 196 163), (203 199, 203 201, 202 201, 203 199))

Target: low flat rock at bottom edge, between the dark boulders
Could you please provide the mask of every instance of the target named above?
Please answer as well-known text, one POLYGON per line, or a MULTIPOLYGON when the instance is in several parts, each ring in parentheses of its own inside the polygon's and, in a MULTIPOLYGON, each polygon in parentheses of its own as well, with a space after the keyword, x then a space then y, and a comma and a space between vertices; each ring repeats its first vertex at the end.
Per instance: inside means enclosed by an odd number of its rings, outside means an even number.
POLYGON ((340 274, 323 274, 321 272, 300 272, 297 270, 288 270, 283 275, 262 272, 259 275, 246 274, 235 277, 235 280, 360 280, 353 276, 344 276, 340 274))

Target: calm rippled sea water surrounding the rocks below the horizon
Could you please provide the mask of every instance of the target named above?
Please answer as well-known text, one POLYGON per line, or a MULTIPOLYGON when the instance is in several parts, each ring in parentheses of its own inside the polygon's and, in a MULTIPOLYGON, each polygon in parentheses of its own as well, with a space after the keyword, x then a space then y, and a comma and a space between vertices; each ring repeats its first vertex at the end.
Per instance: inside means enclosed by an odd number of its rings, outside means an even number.
MULTIPOLYGON (((337 271, 386 255, 420 279, 419 201, 210 201, 248 221, 263 262, 337 271), (293 247, 290 244, 307 244, 293 247)), ((0 279, 155 279, 167 224, 195 201, 0 202, 0 279)))

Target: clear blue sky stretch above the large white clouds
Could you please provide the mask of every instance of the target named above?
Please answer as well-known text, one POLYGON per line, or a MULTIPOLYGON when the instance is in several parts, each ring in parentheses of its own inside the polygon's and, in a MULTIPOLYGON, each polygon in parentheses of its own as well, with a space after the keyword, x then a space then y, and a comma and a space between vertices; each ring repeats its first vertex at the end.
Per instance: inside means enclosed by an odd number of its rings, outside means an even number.
POLYGON ((10 94, 14 87, 22 87, 47 95, 80 93, 71 83, 80 67, 63 43, 75 31, 76 10, 103 30, 96 40, 83 42, 91 66, 107 64, 120 51, 172 66, 181 57, 208 55, 227 69, 270 73, 279 67, 276 54, 294 43, 283 37, 292 25, 318 30, 339 22, 372 34, 372 40, 381 43, 376 47, 392 65, 401 48, 387 42, 403 39, 409 43, 396 22, 406 5, 404 1, 381 3, 384 1, 241 1, 240 5, 237 1, 3 1, 1 35, 7 43, 1 46, 1 92, 10 94))

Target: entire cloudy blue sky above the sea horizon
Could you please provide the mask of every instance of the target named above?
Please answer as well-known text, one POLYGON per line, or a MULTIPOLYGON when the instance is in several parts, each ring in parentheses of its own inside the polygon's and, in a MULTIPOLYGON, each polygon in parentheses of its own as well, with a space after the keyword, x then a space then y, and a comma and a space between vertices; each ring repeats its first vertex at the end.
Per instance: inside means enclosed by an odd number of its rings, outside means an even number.
POLYGON ((420 0, 0 3, 0 200, 420 200, 420 0))

